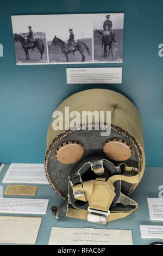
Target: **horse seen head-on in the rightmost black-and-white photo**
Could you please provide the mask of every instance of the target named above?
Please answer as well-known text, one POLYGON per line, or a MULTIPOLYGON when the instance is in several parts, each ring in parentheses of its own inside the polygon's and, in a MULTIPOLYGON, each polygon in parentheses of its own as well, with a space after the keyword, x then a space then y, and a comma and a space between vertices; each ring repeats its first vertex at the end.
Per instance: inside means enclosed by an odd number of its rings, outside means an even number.
POLYGON ((111 52, 111 57, 112 57, 112 60, 114 60, 114 56, 113 56, 113 52, 112 52, 112 47, 113 47, 113 42, 114 42, 114 39, 112 38, 111 34, 110 33, 107 33, 107 34, 103 34, 101 31, 98 31, 96 29, 96 31, 102 35, 102 47, 104 45, 104 57, 107 58, 107 46, 109 45, 109 53, 108 53, 108 57, 110 57, 110 52, 111 52))

